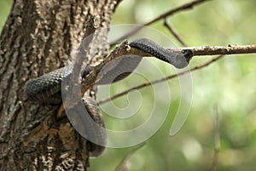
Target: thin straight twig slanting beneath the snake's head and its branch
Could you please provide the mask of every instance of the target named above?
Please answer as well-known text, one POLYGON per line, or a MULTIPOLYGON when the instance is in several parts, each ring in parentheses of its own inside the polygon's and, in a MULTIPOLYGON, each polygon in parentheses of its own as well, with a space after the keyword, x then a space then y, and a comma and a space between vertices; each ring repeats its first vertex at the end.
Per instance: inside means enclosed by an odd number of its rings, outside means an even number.
POLYGON ((174 77, 182 76, 182 75, 184 75, 184 74, 186 74, 186 73, 188 73, 188 72, 190 72, 190 71, 199 70, 199 69, 201 69, 201 68, 203 68, 203 67, 206 67, 206 66, 210 65, 212 62, 214 62, 214 61, 216 61, 216 60, 219 60, 222 56, 223 56, 223 55, 218 55, 217 57, 213 58, 212 60, 207 61, 206 63, 202 64, 201 66, 195 66, 195 67, 192 68, 192 69, 179 72, 178 74, 173 74, 173 75, 168 76, 168 77, 163 77, 163 78, 161 78, 161 79, 155 80, 155 81, 150 82, 150 83, 149 83, 149 82, 145 82, 145 83, 140 84, 140 85, 137 85, 137 86, 135 86, 135 87, 133 87, 133 88, 126 89, 125 91, 123 91, 123 92, 121 92, 121 93, 119 93, 119 94, 115 94, 115 95, 111 96, 110 98, 108 98, 108 99, 106 99, 106 100, 101 100, 101 101, 99 101, 99 102, 98 102, 98 105, 102 105, 102 104, 104 104, 104 103, 106 103, 106 102, 108 102, 108 101, 117 99, 117 98, 119 98, 119 97, 121 97, 121 96, 123 96, 123 95, 125 95, 125 94, 128 94, 128 93, 129 93, 131 90, 133 90, 133 89, 145 88, 145 87, 147 87, 147 86, 149 86, 149 85, 153 85, 153 84, 156 84, 156 83, 161 83, 161 82, 164 82, 164 81, 166 81, 166 80, 170 80, 170 79, 172 79, 172 78, 174 78, 174 77))

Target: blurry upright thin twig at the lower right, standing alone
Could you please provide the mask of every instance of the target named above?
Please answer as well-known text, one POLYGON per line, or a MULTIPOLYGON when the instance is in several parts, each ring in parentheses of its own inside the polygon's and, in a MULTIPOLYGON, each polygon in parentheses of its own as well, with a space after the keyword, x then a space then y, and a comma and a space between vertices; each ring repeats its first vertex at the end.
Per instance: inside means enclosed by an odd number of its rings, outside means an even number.
POLYGON ((212 167, 210 171, 215 171, 217 168, 218 164, 218 152, 220 148, 220 143, 219 143, 219 120, 218 120, 218 107, 214 107, 214 113, 215 113, 215 136, 214 136, 214 156, 213 156, 213 161, 212 161, 212 167))

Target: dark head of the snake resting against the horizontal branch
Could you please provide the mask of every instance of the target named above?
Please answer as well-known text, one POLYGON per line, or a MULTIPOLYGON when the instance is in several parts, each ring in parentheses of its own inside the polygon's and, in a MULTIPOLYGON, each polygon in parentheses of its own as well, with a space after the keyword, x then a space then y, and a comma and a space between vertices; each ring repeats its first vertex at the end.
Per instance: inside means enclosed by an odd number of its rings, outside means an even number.
POLYGON ((189 61, 193 57, 193 51, 191 49, 183 49, 181 52, 177 52, 175 60, 172 60, 172 65, 178 69, 184 68, 189 65, 189 61))

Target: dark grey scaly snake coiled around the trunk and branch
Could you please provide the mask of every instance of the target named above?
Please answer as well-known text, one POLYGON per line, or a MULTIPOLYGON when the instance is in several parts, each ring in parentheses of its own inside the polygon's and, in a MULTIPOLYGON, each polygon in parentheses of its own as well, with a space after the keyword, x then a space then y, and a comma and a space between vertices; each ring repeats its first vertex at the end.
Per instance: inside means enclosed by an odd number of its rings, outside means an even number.
MULTIPOLYGON (((154 43, 147 38, 137 39, 130 44, 131 48, 147 53, 149 56, 154 56, 159 60, 163 60, 177 68, 183 68, 188 66, 189 60, 193 56, 193 52, 190 49, 185 49, 181 52, 171 51, 161 47, 159 44, 154 43)), ((112 68, 108 68, 102 80, 98 84, 106 84, 117 82, 131 74, 131 72, 137 67, 142 57, 135 57, 127 60, 127 58, 121 58, 116 62, 112 68), (119 71, 125 71, 122 74, 117 74, 119 71)), ((90 71, 93 70, 92 66, 82 66, 81 77, 85 77, 90 71)), ((33 78, 29 80, 24 88, 24 94, 27 100, 31 100, 38 103, 61 105, 61 82, 64 78, 70 76, 72 72, 72 66, 65 66, 55 71, 51 71, 41 77, 33 78)), ((90 96, 84 96, 84 106, 89 111, 90 117, 101 127, 104 127, 104 123, 101 117, 101 113, 96 106, 96 101, 90 96)), ((104 145, 106 143, 106 134, 104 131, 99 133, 94 128, 87 127, 87 132, 93 132, 89 134, 96 134, 96 139, 101 145, 94 143, 90 144, 90 156, 99 156, 104 151, 104 145), (103 144, 103 145, 102 145, 103 144)))

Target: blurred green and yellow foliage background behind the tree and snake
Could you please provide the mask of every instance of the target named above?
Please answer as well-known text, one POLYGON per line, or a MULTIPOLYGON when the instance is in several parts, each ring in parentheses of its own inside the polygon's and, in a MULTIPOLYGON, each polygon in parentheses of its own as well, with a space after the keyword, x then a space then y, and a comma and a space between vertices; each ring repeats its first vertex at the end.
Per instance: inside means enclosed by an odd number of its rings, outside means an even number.
MULTIPOLYGON (((188 2, 188 0, 124 0, 113 15, 112 24, 113 26, 143 24, 169 9, 188 2)), ((10 1, 2 0, 0 4, 2 27, 9 13, 10 1)), ((168 22, 189 46, 255 44, 255 7, 254 0, 212 0, 168 17, 168 22)), ((177 46, 181 46, 163 26, 162 20, 150 27, 165 34, 177 46)), ((210 170, 214 153, 216 115, 214 108, 216 107, 219 114, 221 145, 217 170, 254 170, 256 168, 255 57, 256 54, 226 55, 211 66, 192 72, 193 99, 189 117, 175 136, 170 136, 169 130, 175 113, 181 105, 181 88, 177 78, 168 81, 168 91, 172 94, 171 105, 165 101, 165 96, 162 97, 163 107, 170 105, 168 117, 157 133, 147 140, 146 145, 128 158, 129 170, 210 170)), ((209 56, 195 57, 189 66, 200 65, 209 59, 209 56)), ((165 76, 175 72, 172 66, 154 59, 143 60, 138 70, 150 74, 152 71, 148 69, 147 65, 150 65, 148 61, 153 61, 165 76)), ((145 81, 144 77, 132 74, 131 77, 111 86, 110 91, 111 94, 117 94, 145 81)), ((161 91, 165 93, 167 90, 161 91)), ((138 99, 143 99, 143 105, 136 116, 132 116, 129 118, 130 121, 126 122, 108 117, 104 113, 107 128, 125 130, 125 128, 137 127, 150 117, 149 109, 154 105, 153 88, 140 89, 139 93, 141 96, 138 96, 138 99)), ((136 98, 132 100, 137 102, 136 98)), ((113 104, 118 107, 129 105, 126 96, 114 100, 113 104)), ((125 155, 134 148, 108 148, 101 157, 90 160, 89 170, 114 170, 125 155)))

